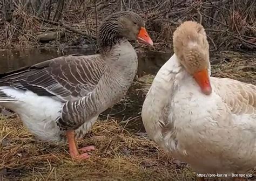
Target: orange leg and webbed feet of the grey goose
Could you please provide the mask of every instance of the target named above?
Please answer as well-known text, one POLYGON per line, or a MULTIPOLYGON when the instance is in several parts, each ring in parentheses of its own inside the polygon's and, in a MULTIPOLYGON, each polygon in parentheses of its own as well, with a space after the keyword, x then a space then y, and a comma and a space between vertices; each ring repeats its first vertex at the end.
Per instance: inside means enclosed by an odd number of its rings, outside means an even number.
MULTIPOLYGON (((74 130, 66 131, 66 137, 68 138, 68 142, 69 142, 69 154, 70 154, 71 158, 83 160, 83 159, 87 159, 90 157, 90 155, 87 153, 79 154, 79 152, 77 150, 76 141, 75 141, 75 131, 74 130)), ((95 148, 93 146, 89 146, 89 147, 81 148, 79 150, 86 152, 86 151, 95 150, 95 148)))

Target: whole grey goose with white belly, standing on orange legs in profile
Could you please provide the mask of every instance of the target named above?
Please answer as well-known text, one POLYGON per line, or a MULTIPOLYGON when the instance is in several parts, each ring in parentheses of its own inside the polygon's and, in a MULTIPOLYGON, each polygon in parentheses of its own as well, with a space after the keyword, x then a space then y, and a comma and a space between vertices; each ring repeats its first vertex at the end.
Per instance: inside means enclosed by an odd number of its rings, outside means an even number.
POLYGON ((76 138, 131 86, 138 60, 129 40, 136 39, 153 45, 143 19, 131 11, 113 13, 99 27, 100 54, 65 55, 0 74, 0 105, 40 140, 68 142, 72 158, 86 159, 95 148, 79 154, 76 138))

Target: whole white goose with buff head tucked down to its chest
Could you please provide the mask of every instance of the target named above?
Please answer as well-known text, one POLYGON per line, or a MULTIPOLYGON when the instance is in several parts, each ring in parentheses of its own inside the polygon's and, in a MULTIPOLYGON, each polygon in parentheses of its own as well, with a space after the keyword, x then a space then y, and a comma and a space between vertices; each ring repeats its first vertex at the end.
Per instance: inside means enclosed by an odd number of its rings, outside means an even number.
POLYGON ((198 173, 256 166, 256 86, 211 77, 204 27, 184 22, 147 93, 142 119, 161 148, 198 173))

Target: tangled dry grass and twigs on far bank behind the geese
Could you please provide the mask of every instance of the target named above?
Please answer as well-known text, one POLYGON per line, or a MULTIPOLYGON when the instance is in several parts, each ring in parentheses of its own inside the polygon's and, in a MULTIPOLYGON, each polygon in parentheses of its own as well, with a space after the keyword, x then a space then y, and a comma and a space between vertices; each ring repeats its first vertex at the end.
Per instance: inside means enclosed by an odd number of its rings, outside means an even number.
POLYGON ((31 9, 28 4, 14 3, 12 19, 9 22, 4 18, 1 22, 0 19, 0 48, 49 47, 58 46, 58 43, 71 46, 70 41, 73 41, 73 46, 83 46, 81 40, 95 45, 100 22, 113 12, 124 10, 132 10, 143 17, 156 50, 169 51, 172 48, 173 32, 185 20, 204 25, 214 51, 256 48, 254 1, 69 0, 64 2, 61 10, 58 9, 58 2, 62 1, 44 2, 45 6, 39 14, 35 7, 31 9), (56 13, 60 15, 58 18, 56 13), (65 30, 62 39, 51 41, 51 44, 38 42, 38 34, 60 31, 60 28, 65 30))

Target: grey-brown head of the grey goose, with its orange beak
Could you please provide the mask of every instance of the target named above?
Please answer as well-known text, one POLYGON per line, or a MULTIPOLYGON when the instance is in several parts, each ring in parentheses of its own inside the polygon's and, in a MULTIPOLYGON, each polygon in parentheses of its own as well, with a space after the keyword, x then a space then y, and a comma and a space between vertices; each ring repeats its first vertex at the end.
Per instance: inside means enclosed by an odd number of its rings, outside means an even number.
POLYGON ((113 13, 99 27, 99 45, 102 47, 112 46, 122 38, 137 39, 142 43, 153 45, 142 17, 132 11, 113 13))

